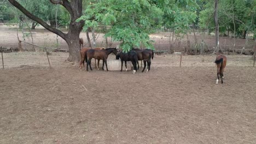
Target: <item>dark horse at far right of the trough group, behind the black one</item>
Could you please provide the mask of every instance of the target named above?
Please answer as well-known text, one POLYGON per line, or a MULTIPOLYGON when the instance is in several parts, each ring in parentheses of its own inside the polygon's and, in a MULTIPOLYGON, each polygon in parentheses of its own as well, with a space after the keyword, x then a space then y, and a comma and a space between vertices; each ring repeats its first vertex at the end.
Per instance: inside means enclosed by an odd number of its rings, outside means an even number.
MULTIPOLYGON (((143 73, 143 71, 145 70, 146 68, 146 62, 148 64, 148 69, 147 71, 150 70, 150 65, 151 65, 151 58, 152 58, 152 55, 151 53, 148 51, 148 50, 139 50, 139 49, 134 49, 137 53, 137 56, 138 56, 138 61, 142 61, 143 60, 143 63, 144 63, 144 68, 143 70, 141 71, 143 73)), ((137 62, 138 64, 138 62, 137 62)), ((138 64, 138 69, 139 69, 139 64, 138 64)))

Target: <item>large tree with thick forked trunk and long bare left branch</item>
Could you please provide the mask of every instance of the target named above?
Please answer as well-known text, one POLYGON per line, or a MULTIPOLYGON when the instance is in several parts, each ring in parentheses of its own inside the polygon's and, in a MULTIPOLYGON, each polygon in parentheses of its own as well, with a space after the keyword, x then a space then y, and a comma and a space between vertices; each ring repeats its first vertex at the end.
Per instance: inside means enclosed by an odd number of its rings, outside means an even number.
POLYGON ((38 22, 44 28, 48 29, 48 31, 53 32, 63 38, 69 48, 69 61, 79 61, 79 34, 83 29, 84 21, 76 22, 80 16, 82 16, 82 0, 50 0, 53 4, 61 4, 70 15, 70 23, 69 23, 69 31, 68 33, 63 33, 59 29, 56 29, 42 19, 40 17, 35 16, 26 8, 24 8, 19 2, 14 0, 8 0, 14 7, 18 8, 22 13, 24 13, 30 19, 38 22))

